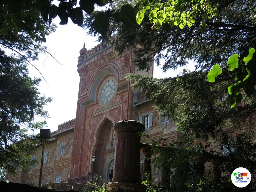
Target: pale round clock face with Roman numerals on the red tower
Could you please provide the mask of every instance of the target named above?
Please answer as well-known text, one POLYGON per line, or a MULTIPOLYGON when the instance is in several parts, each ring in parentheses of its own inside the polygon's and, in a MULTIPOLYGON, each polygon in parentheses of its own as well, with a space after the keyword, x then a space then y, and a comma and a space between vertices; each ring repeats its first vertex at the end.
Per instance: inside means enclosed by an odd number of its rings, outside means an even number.
POLYGON ((100 92, 100 100, 102 103, 108 103, 110 100, 112 100, 113 96, 115 94, 115 82, 112 80, 107 81, 100 92))

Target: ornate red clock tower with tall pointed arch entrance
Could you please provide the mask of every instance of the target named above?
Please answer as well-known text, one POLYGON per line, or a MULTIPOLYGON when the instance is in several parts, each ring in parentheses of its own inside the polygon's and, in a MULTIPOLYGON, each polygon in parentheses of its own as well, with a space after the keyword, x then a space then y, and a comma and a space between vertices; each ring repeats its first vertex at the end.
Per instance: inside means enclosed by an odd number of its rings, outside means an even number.
MULTIPOLYGON (((127 49, 116 55, 112 45, 98 44, 80 50, 77 71, 80 76, 74 147, 70 178, 102 176, 112 179, 116 133, 114 124, 124 119, 137 120, 133 112, 136 97, 125 79, 127 73, 153 75, 137 71, 135 52, 127 49), (96 162, 92 163, 92 156, 96 162)), ((90 178, 86 178, 90 180, 90 178)))

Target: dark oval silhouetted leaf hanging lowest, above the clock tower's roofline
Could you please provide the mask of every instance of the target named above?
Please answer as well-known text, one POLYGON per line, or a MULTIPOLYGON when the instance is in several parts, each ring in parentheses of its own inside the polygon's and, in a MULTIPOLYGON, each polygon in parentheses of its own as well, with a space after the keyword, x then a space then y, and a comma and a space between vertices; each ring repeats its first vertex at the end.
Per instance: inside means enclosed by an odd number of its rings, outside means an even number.
POLYGON ((95 29, 104 34, 108 30, 108 16, 104 12, 99 12, 94 20, 95 29))

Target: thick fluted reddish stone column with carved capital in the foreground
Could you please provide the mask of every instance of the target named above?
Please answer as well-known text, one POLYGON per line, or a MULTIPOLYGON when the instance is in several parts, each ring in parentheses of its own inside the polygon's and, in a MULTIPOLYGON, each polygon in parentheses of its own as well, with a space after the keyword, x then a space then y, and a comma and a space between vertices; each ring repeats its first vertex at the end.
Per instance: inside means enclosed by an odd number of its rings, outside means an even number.
POLYGON ((140 177, 140 136, 144 124, 133 121, 119 121, 114 127, 117 134, 115 169, 112 183, 106 185, 108 191, 141 191, 140 177))

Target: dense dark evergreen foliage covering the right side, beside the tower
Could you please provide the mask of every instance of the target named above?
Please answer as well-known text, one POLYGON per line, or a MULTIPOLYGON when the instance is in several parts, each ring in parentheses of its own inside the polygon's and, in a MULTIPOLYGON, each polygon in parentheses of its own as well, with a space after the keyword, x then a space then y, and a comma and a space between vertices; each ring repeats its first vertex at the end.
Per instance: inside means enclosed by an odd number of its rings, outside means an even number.
MULTIPOLYGON (((252 55, 249 48, 255 47, 256 43, 256 4, 254 1, 208 2, 216 7, 212 17, 196 14, 190 18, 195 22, 184 27, 166 21, 155 28, 157 20, 151 20, 150 12, 145 12, 147 14, 140 26, 129 30, 124 25, 118 26, 116 49, 143 45, 137 52, 137 63, 141 69, 148 69, 149 61, 155 55, 158 64, 160 59, 165 59, 164 71, 184 66, 188 60, 196 63, 196 71, 184 71, 175 78, 127 76, 134 82, 134 89, 141 89, 156 103, 158 111, 179 122, 178 132, 182 133, 179 141, 148 138, 153 145, 152 150, 161 154, 153 160, 158 168, 163 167, 165 182, 161 190, 235 191, 237 188, 231 183, 230 175, 237 167, 245 167, 251 172, 252 181, 239 191, 254 191, 255 89, 250 89, 250 94, 247 94, 239 81, 241 83, 250 74, 245 64, 252 55), (203 29, 202 24, 205 24, 203 29), (234 56, 230 57, 233 54, 240 56, 236 62, 239 60, 241 66, 228 70, 233 68, 232 64, 238 65, 232 61, 234 56), (244 57, 247 58, 243 63, 244 57), (216 70, 218 76, 210 83, 206 81, 207 74, 215 64, 222 68, 222 73, 218 74, 219 69, 216 70), (234 87, 232 90, 230 85, 234 87), (234 105, 233 92, 241 94, 237 100, 241 101, 240 105, 234 105), (228 93, 230 96, 221 100, 228 93), (233 108, 230 108, 230 103, 233 108), (222 154, 224 148, 228 150, 225 156, 222 154)), ((252 55, 250 63, 252 68, 254 57, 252 55)), ((249 85, 254 87, 255 75, 251 73, 251 76, 249 85)))

